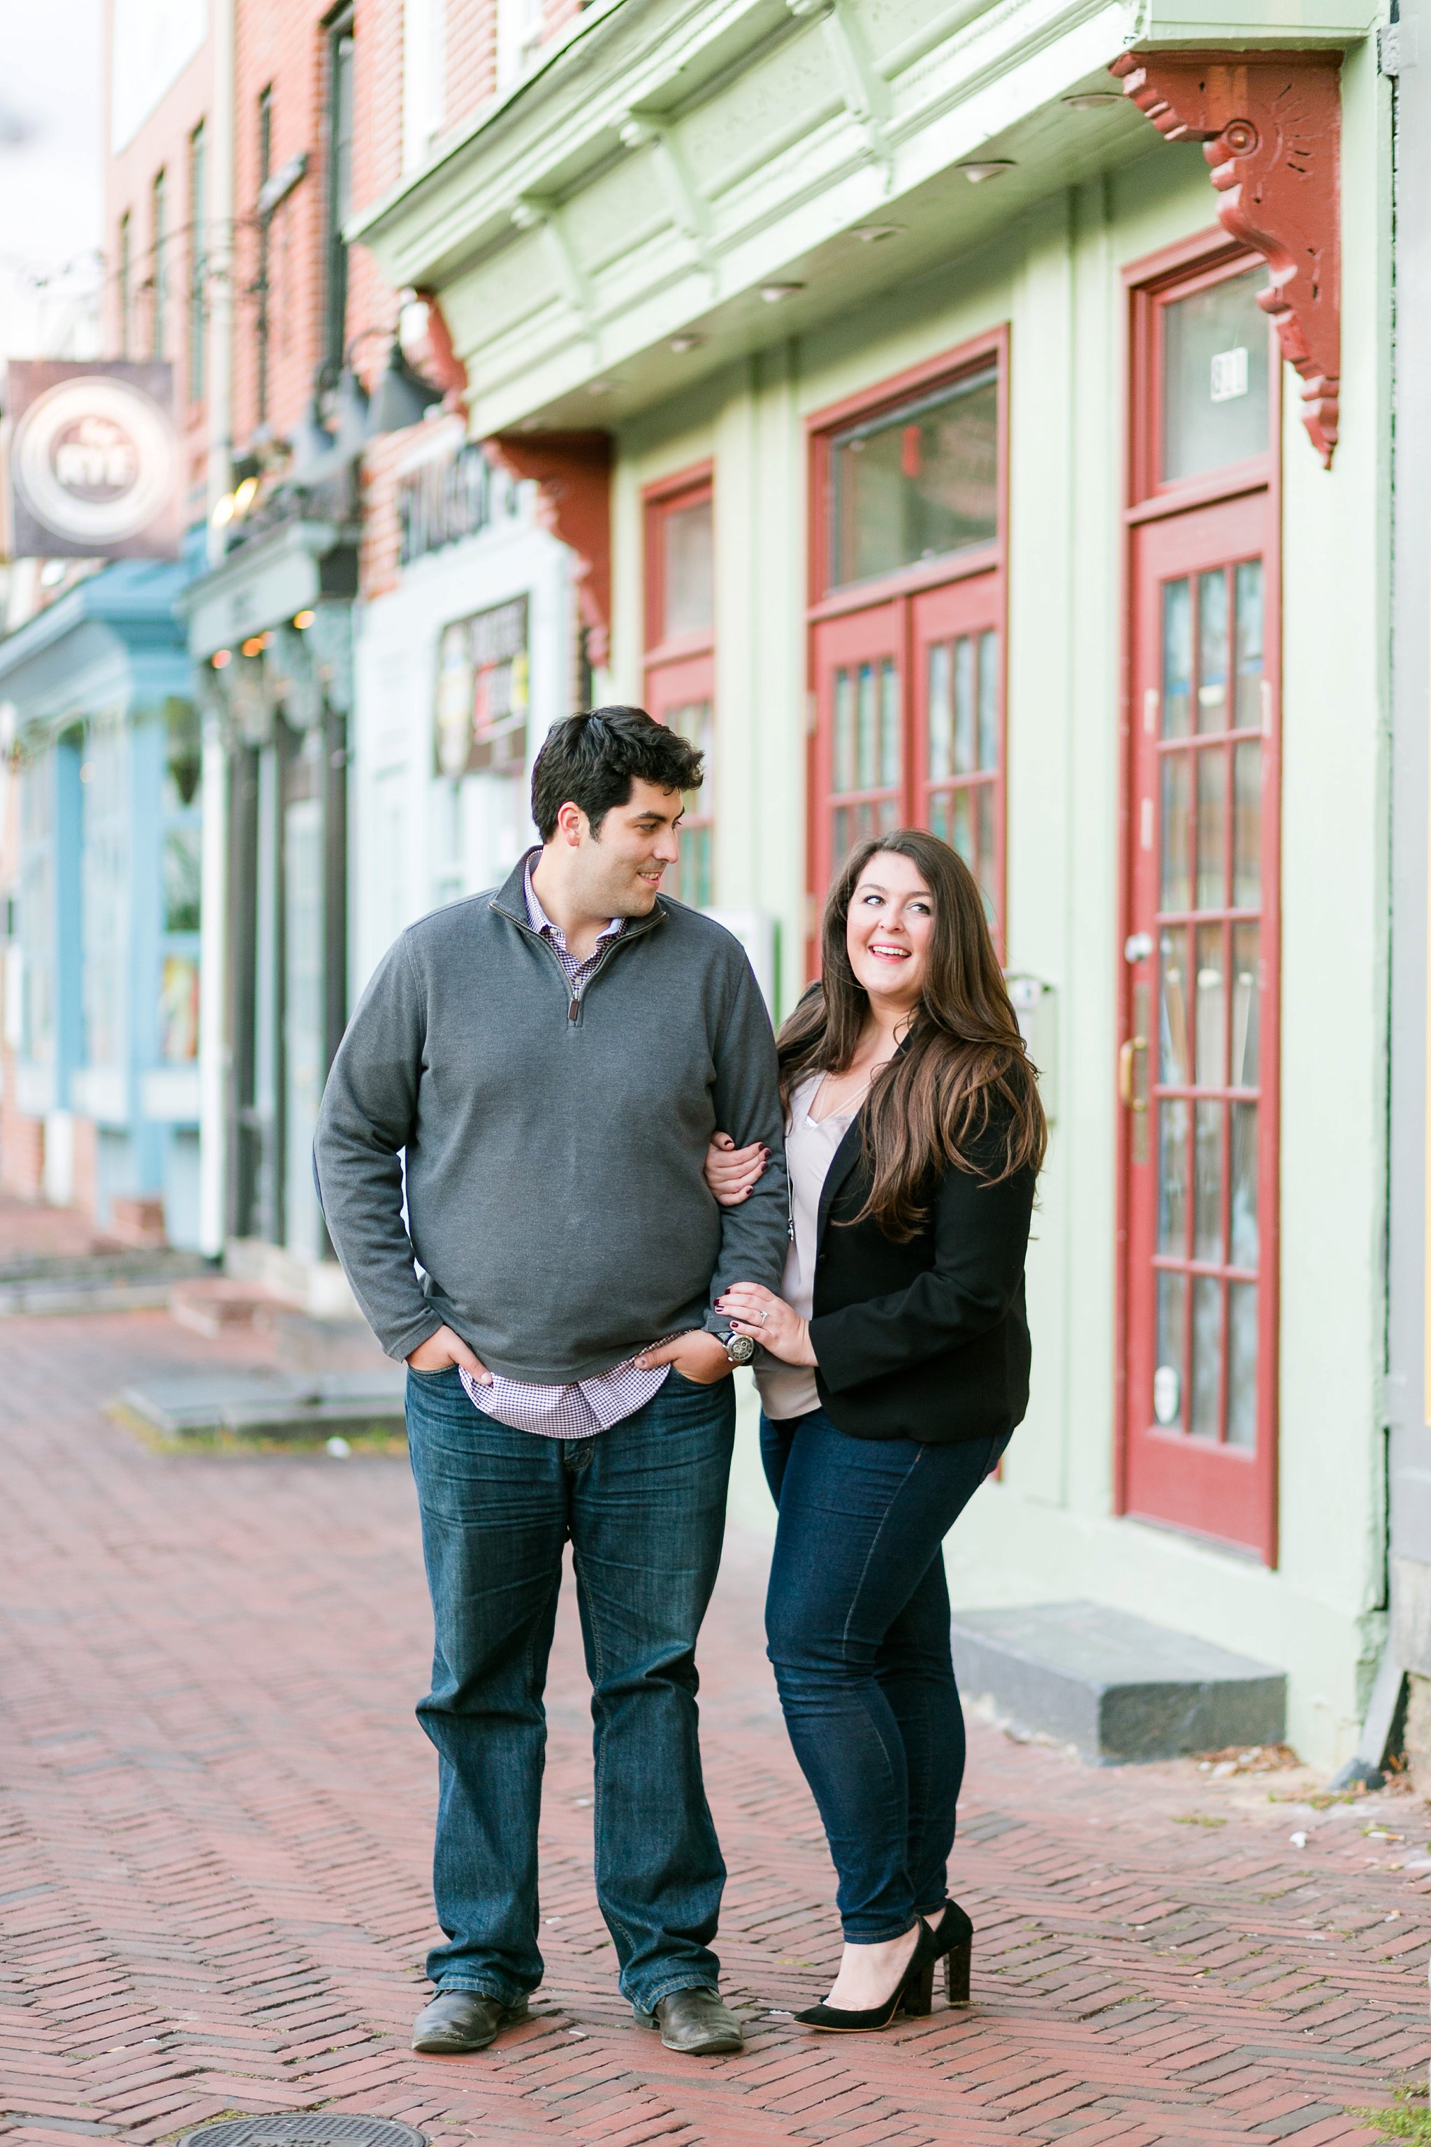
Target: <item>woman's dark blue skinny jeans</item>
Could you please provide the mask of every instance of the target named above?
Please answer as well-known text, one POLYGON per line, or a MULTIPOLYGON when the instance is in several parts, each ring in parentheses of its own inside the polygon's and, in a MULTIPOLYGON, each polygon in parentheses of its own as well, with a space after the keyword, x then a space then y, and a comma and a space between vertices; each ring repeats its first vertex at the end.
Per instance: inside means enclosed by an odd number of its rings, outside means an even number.
POLYGON ((1006 1438, 850 1438, 759 1419, 781 1509, 766 1640, 854 1945, 938 1913, 963 1780, 942 1542, 1006 1438))

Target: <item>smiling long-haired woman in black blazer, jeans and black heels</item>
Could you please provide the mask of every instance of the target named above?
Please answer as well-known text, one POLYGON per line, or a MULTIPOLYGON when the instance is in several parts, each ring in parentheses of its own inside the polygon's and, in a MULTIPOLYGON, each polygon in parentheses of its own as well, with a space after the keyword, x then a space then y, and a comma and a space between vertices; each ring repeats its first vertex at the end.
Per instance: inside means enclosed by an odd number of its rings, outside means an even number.
MULTIPOLYGON (((903 829, 830 889, 822 981, 779 1035, 792 1181, 783 1297, 719 1301, 762 1344, 779 1505, 766 1634, 839 1872, 817 2029, 968 2003, 946 1900, 963 1776, 942 1542, 1028 1404, 1023 1254, 1045 1121, 968 865, 903 829)), ((764 1168, 719 1134, 725 1204, 764 1168)))

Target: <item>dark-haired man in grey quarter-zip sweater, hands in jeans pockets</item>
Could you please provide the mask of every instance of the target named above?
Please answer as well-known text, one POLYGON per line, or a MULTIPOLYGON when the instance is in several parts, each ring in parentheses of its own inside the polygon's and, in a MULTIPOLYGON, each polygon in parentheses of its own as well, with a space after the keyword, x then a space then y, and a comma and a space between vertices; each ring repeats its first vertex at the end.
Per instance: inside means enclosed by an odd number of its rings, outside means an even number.
POLYGON ((749 1344, 727 1344, 712 1305, 736 1280, 779 1288, 787 1211, 751 968, 721 925, 659 897, 699 782, 699 754, 641 709, 556 724, 532 773, 541 850, 498 893, 403 932, 322 1104, 328 1230, 408 1361, 436 1623, 418 1718, 440 1754, 446 1945, 416 2050, 481 2050, 541 1982, 543 1688, 566 1537, 622 1992, 667 2048, 740 2048, 710 1952, 725 1866, 695 1636, 749 1344), (717 1127, 772 1155, 742 1207, 717 1207, 702 1177, 717 1127))

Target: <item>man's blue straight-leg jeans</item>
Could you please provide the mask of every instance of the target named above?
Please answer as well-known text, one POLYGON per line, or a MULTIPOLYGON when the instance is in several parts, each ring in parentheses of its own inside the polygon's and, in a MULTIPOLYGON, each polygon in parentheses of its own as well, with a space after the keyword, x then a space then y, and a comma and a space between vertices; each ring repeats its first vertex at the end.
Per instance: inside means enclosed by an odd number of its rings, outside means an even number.
POLYGON ((543 1688, 571 1537, 592 1679, 596 1898, 624 1995, 714 1988, 725 1864, 702 1784, 695 1636, 721 1561, 732 1381, 661 1391, 592 1438, 483 1415, 455 1370, 408 1374, 408 1447, 433 1602, 418 1720, 438 1748, 442 1990, 513 2003, 541 1982, 543 1688))

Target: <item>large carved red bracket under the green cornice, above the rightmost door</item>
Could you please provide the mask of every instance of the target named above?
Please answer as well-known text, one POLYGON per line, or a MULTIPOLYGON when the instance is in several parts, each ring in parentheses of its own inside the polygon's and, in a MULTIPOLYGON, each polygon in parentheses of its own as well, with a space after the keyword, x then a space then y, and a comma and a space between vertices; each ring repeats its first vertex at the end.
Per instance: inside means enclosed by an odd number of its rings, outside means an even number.
POLYGON ((1124 52, 1109 73, 1169 142, 1201 142, 1219 221, 1262 253, 1257 303, 1302 376, 1302 423, 1332 466, 1341 384, 1341 88, 1334 52, 1124 52))

